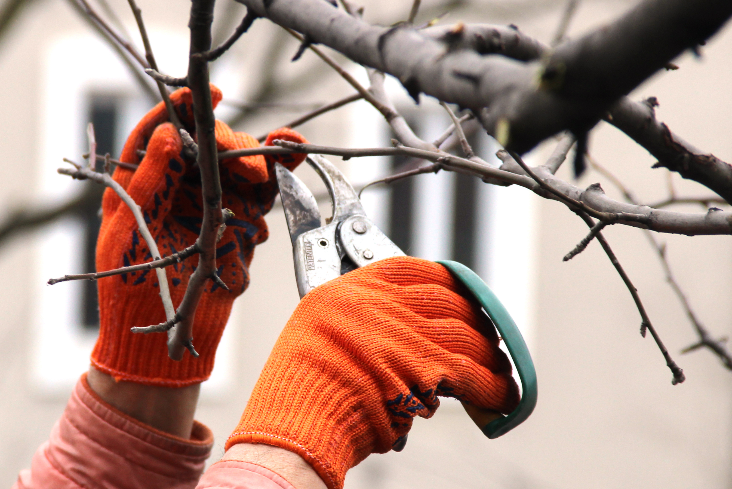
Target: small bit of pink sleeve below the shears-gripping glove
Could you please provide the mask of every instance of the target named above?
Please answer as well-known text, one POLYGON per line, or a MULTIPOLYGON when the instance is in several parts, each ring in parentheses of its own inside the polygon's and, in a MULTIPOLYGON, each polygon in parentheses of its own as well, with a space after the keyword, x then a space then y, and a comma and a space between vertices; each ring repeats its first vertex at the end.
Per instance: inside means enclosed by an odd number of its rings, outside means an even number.
POLYGON ((262 466, 237 460, 214 463, 195 489, 295 489, 289 482, 262 466))

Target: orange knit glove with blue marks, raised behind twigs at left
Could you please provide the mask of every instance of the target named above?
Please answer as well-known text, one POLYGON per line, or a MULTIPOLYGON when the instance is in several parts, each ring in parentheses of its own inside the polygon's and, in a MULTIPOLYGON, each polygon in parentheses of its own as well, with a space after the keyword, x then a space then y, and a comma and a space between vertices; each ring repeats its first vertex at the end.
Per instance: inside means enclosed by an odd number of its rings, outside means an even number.
MULTIPOLYGON (((214 106, 221 92, 212 86, 214 106)), ((179 89, 171 100, 182 123, 195 135, 190 89, 179 89)), ((168 116, 163 102, 147 113, 132 131, 122 151, 125 163, 138 163, 138 149, 146 149, 136 171, 117 167, 113 178, 141 206, 148 227, 160 253, 171 255, 193 245, 201 228, 201 176, 182 153, 181 138, 168 116)), ((216 122, 219 151, 258 147, 259 143, 244 132, 233 132, 223 122, 216 122)), ((291 129, 272 132, 273 139, 306 142, 291 129)), ((264 214, 269 212, 277 195, 275 161, 294 169, 305 154, 283 157, 251 156, 220 162, 224 207, 234 212, 226 223, 217 245, 218 275, 229 291, 209 281, 195 313, 193 335, 198 359, 185 355, 180 362, 168 359, 166 336, 162 333, 133 334, 132 326, 149 326, 165 321, 165 311, 158 295, 157 276, 153 270, 102 278, 98 281, 100 335, 91 363, 118 381, 182 387, 206 380, 214 367, 214 354, 236 296, 249 285, 249 265, 255 245, 267 239, 264 214)), ((97 240, 97 270, 115 269, 151 259, 130 209, 116 193, 107 189, 102 201, 102 226, 97 240)), ((168 266, 168 285, 173 305, 178 307, 190 274, 198 264, 198 255, 180 264, 168 266)))

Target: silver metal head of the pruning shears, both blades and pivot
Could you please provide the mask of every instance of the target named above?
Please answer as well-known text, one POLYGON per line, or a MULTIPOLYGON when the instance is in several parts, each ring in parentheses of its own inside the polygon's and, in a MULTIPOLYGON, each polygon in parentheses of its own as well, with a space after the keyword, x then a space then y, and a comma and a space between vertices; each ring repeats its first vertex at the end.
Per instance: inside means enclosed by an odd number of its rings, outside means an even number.
POLYGON ((354 187, 340 170, 319 154, 308 157, 307 163, 331 198, 332 218, 323 226, 313 193, 291 171, 276 165, 300 297, 352 269, 404 255, 366 216, 354 187))

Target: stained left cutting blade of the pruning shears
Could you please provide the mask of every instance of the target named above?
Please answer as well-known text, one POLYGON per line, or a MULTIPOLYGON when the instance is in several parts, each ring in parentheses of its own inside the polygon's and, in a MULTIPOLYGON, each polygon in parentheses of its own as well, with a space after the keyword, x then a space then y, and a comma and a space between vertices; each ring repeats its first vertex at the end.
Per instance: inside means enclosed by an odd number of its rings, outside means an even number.
POLYGON ((287 228, 290 231, 290 239, 295 244, 297 236, 319 228, 321 215, 318 210, 318 203, 305 184, 280 163, 275 163, 277 172, 277 185, 280 187, 280 198, 285 208, 287 228))

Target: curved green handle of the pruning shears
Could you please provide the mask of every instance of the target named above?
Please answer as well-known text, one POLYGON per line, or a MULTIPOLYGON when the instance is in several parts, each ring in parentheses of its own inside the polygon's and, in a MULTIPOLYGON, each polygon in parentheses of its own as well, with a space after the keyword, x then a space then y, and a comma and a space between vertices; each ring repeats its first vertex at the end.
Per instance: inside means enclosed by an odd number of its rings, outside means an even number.
POLYGON ((488 438, 498 438, 526 421, 526 418, 534 411, 534 407, 537 406, 537 372, 534 370, 534 361, 531 360, 529 348, 526 347, 526 342, 511 315, 498 300, 496 294, 493 294, 493 291, 488 288, 488 285, 485 285, 485 282, 475 272, 457 261, 445 260, 437 263, 458 277, 483 306, 493 324, 496 325, 498 334, 506 343, 506 348, 511 354, 521 379, 522 393, 518 406, 508 416, 494 419, 481 428, 483 434, 488 438))

